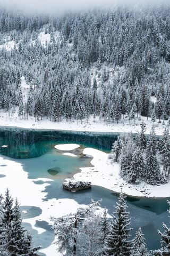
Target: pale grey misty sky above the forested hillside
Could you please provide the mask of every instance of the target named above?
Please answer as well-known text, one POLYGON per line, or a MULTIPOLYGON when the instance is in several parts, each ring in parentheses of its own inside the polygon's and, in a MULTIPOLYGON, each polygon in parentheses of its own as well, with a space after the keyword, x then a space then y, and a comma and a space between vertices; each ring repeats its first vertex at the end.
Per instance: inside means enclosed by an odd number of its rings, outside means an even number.
MULTIPOLYGON (((166 0, 0 0, 1 4, 15 5, 16 7, 24 8, 25 10, 43 10, 43 11, 62 11, 84 9, 86 7, 106 6, 120 3, 140 4, 146 3, 162 3, 166 0)), ((169 0, 167 0, 169 2, 169 0)))

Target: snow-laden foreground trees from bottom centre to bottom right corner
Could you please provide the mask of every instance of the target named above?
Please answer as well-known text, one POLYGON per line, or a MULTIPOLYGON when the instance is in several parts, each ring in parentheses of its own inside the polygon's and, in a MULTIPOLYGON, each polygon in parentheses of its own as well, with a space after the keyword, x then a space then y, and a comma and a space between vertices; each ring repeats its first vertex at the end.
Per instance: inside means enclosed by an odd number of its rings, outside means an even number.
MULTIPOLYGON (((58 251, 64 255, 78 256, 167 256, 169 248, 169 227, 163 223, 161 248, 148 251, 141 228, 131 238, 129 212, 126 199, 121 192, 113 218, 107 218, 106 209, 98 213, 100 202, 92 201, 86 208, 60 218, 52 217, 58 251)), ((168 202, 169 203, 169 202, 168 202)), ((169 212, 169 211, 168 211, 169 212)))

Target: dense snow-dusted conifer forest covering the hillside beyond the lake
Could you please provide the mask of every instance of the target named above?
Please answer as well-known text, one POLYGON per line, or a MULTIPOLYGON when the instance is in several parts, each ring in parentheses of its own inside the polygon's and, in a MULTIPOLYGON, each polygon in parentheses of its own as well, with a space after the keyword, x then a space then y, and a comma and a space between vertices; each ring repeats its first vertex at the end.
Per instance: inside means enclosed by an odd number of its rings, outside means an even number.
POLYGON ((0 10, 0 107, 36 119, 169 119, 169 6, 0 10), (49 35, 42 44, 40 32, 49 35), (5 48, 13 42, 11 50, 5 48), (21 77, 30 85, 22 92, 21 77))

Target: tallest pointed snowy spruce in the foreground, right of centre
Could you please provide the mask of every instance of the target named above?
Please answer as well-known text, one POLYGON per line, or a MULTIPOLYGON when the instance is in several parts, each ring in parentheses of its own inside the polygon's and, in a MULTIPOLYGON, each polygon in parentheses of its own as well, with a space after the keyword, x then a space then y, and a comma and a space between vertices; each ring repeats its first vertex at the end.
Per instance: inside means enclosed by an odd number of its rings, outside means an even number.
POLYGON ((107 255, 112 256, 130 256, 132 252, 132 243, 129 240, 130 219, 128 219, 129 212, 126 212, 125 195, 121 192, 118 198, 116 212, 113 215, 114 221, 111 222, 111 231, 109 233, 107 242, 107 255))

